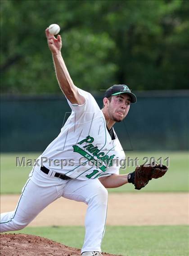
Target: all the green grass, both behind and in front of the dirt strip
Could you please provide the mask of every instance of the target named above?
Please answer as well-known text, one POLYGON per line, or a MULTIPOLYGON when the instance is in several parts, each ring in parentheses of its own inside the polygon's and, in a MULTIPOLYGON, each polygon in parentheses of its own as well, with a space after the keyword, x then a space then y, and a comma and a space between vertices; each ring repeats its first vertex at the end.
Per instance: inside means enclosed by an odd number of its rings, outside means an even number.
MULTIPOLYGON (((39 154, 1 154, 0 192, 19 194, 25 184, 31 167, 16 167, 16 156, 36 159, 39 154)), ((164 177, 152 180, 147 187, 136 191, 132 185, 109 189, 109 192, 188 192, 189 191, 189 152, 129 152, 136 156, 140 164, 143 157, 170 157, 169 170, 164 177)), ((129 173, 134 168, 121 170, 129 173)), ((144 206, 145 207, 145 206, 144 206)), ((27 227, 18 232, 28 233, 61 242, 67 246, 81 248, 84 227, 27 227)), ((102 250, 123 256, 188 256, 189 226, 107 226, 102 250)))

